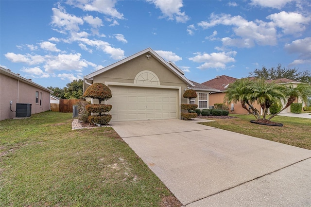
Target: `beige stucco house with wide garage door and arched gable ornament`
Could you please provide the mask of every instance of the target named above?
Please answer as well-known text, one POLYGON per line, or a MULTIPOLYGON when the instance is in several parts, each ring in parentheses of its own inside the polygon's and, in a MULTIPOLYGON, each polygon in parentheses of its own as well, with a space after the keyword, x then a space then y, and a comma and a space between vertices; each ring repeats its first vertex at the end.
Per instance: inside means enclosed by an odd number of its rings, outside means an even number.
MULTIPOLYGON (((84 76, 83 93, 93 83, 112 91, 112 98, 104 102, 112 105, 111 121, 181 119, 180 104, 189 102, 182 95, 195 87, 173 62, 150 48, 84 76)), ((204 90, 207 101, 210 91, 204 90)))

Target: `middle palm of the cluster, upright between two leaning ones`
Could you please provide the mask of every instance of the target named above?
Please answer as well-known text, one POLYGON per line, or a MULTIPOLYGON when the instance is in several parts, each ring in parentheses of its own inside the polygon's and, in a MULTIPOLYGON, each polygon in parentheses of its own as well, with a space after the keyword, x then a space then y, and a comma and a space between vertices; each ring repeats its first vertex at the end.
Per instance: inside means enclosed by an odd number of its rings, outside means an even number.
POLYGON ((268 83, 265 79, 257 79, 253 84, 249 85, 251 93, 249 99, 251 102, 257 101, 263 111, 263 119, 266 119, 268 109, 272 104, 281 104, 285 100, 283 93, 285 87, 274 82, 268 83))

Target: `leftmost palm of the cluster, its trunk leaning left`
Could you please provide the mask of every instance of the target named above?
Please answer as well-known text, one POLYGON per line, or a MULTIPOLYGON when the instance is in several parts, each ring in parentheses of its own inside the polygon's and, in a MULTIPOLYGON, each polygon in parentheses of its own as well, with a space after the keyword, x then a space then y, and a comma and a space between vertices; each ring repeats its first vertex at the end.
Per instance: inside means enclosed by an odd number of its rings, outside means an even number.
POLYGON ((242 107, 248 111, 248 113, 253 114, 254 117, 259 120, 260 115, 258 110, 253 108, 253 100, 251 97, 251 85, 253 84, 248 78, 238 79, 232 84, 230 84, 225 91, 225 101, 228 102, 240 102, 242 107), (248 107, 246 106, 248 105, 248 107), (251 110, 250 110, 251 109, 251 110))

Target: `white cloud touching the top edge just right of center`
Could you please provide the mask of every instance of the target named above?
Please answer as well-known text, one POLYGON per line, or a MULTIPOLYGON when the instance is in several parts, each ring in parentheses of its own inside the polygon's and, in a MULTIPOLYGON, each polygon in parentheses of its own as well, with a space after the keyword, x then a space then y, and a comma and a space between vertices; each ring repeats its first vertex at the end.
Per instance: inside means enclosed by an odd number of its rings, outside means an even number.
POLYGON ((187 22, 190 18, 181 12, 183 7, 182 0, 147 0, 155 4, 156 8, 159 8, 163 14, 163 17, 168 17, 170 20, 176 20, 176 22, 187 22))

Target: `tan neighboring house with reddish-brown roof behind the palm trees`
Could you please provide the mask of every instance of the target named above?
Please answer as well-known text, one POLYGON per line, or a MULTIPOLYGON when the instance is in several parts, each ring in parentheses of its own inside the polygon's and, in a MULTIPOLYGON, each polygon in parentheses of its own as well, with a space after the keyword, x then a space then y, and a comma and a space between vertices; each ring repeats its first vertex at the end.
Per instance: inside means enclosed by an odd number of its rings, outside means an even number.
MULTIPOLYGON (((250 77, 250 80, 254 80, 254 77, 250 77)), ((204 82, 203 85, 205 86, 209 86, 212 88, 216 88, 219 89, 219 91, 213 91, 211 92, 211 94, 209 95, 209 106, 213 106, 214 104, 220 104, 220 103, 224 103, 224 98, 225 98, 225 90, 226 88, 229 86, 230 83, 233 83, 234 81, 236 81, 237 78, 233 78, 230 76, 226 76, 226 75, 221 75, 221 76, 216 76, 216 78, 211 79, 207 82, 204 82)), ((293 86, 297 86, 297 84, 299 84, 300 82, 296 82, 287 78, 281 78, 281 79, 276 79, 276 80, 267 80, 267 82, 275 82, 276 84, 292 84, 293 86)), ((295 103, 302 103, 300 99, 296 99, 295 103)), ((240 102, 238 103, 225 103, 227 104, 227 106, 229 107, 229 110, 231 109, 231 113, 232 114, 247 114, 248 112, 242 108, 242 105, 240 102), (234 110, 232 110, 234 109, 234 110)), ((283 107, 286 105, 286 103, 283 103, 283 107)), ((262 114, 262 109, 260 107, 259 104, 254 103, 253 106, 256 109, 259 109, 260 113, 262 114)), ((285 109, 284 111, 282 111, 281 113, 290 113, 291 112, 291 108, 288 107, 287 109, 285 109)))

